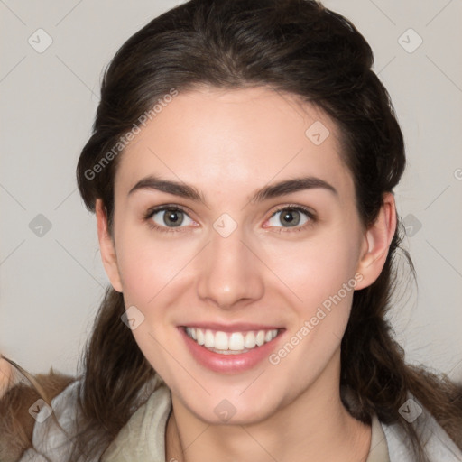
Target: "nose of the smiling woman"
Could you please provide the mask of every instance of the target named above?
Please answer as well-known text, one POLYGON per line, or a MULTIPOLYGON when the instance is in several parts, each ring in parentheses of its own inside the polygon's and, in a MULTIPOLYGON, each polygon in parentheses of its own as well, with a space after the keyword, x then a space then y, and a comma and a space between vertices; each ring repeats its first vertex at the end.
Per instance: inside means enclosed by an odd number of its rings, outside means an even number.
POLYGON ((198 260, 197 291, 204 303, 229 310, 263 297, 265 266, 246 241, 239 226, 226 237, 212 230, 198 260))

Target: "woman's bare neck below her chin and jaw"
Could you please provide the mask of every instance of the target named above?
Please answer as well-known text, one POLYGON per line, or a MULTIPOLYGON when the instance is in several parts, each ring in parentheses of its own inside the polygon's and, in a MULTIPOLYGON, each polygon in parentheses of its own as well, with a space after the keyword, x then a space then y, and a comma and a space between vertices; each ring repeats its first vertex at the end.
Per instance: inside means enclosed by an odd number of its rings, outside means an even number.
POLYGON ((316 383, 265 420, 248 425, 209 425, 172 395, 166 460, 365 461, 371 428, 354 419, 341 402, 339 369, 338 350, 316 383), (336 381, 332 370, 337 371, 336 381))

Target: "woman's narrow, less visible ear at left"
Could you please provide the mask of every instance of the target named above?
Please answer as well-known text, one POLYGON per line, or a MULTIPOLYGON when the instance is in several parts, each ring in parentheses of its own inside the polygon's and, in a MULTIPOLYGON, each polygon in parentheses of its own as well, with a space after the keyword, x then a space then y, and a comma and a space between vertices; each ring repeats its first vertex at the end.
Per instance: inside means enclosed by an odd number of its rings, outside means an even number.
POLYGON ((107 229, 106 211, 103 208, 102 199, 97 199, 97 238, 99 240, 99 251, 101 260, 105 266, 107 277, 114 287, 115 291, 122 292, 122 281, 117 266, 117 256, 115 254, 115 245, 107 229))

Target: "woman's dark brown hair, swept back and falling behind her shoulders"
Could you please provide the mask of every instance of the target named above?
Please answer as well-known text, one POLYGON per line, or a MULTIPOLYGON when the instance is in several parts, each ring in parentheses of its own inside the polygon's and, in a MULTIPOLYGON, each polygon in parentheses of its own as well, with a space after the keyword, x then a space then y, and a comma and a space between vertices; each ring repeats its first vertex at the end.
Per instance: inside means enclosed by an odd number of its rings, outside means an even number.
MULTIPOLYGON (((373 52, 356 27, 316 1, 191 0, 179 5, 130 37, 106 69, 93 134, 77 167, 85 205, 94 212, 96 199, 102 199, 112 232, 115 171, 124 155, 114 146, 172 88, 266 87, 310 102, 336 121, 355 182, 356 208, 363 225, 370 226, 383 193, 393 191, 406 164, 402 131, 373 63, 373 52)), ((446 376, 407 365, 385 319, 396 289, 398 250, 415 275, 400 246, 403 226, 397 219, 382 273, 355 291, 341 343, 340 385, 355 399, 356 406, 348 409, 356 419, 370 423, 376 413, 384 423, 398 423, 415 460, 425 461, 419 435, 399 408, 411 393, 462 448, 462 393, 446 376)), ((120 321, 124 310, 123 295, 109 288, 84 361, 80 406, 87 427, 76 439, 78 452, 106 448, 154 374, 120 321)))

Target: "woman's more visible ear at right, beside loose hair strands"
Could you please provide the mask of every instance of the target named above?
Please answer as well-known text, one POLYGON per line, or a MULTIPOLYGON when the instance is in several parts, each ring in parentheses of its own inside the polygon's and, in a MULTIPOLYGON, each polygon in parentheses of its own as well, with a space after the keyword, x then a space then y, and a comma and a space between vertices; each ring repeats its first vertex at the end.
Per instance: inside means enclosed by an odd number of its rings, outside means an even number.
POLYGON ((396 230, 396 205, 391 192, 383 194, 383 204, 373 225, 365 233, 362 254, 356 272, 363 275, 355 289, 371 285, 382 273, 396 230))

